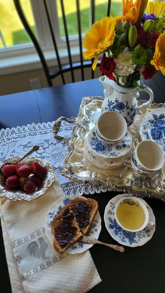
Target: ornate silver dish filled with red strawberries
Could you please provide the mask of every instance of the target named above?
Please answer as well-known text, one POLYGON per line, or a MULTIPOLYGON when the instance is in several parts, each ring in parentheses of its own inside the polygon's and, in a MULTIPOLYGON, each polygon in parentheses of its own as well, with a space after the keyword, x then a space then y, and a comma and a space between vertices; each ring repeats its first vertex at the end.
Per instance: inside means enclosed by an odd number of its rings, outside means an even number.
POLYGON ((0 165, 0 197, 12 201, 35 200, 54 182, 54 170, 43 159, 28 156, 14 164, 19 159, 11 157, 0 165))

